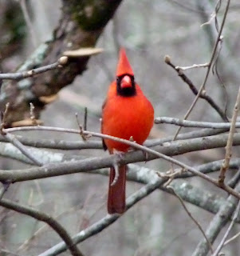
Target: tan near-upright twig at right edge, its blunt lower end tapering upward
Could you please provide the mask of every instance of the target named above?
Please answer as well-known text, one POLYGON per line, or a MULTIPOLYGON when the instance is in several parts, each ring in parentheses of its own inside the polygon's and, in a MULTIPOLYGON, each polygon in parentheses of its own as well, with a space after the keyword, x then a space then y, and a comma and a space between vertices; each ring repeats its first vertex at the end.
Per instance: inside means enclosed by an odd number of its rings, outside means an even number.
POLYGON ((234 111, 233 111, 233 116, 232 116, 232 120, 230 123, 230 131, 229 131, 229 137, 226 143, 226 154, 225 154, 225 159, 222 163, 222 168, 220 170, 220 174, 218 177, 218 182, 219 185, 221 186, 224 183, 225 180, 225 174, 226 174, 226 170, 229 168, 229 162, 230 162, 230 158, 231 158, 231 151, 232 151, 232 146, 233 146, 233 142, 234 142, 234 133, 235 133, 235 124, 238 118, 238 111, 240 108, 240 86, 238 89, 238 96, 237 96, 237 100, 234 106, 234 111))

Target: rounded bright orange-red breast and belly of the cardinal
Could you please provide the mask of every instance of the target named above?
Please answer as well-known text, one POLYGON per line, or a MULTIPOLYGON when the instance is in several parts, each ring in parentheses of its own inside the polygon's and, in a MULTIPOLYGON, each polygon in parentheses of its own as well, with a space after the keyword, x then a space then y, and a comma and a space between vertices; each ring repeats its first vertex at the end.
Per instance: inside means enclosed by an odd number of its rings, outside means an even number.
MULTIPOLYGON (((134 97, 116 96, 108 98, 103 109, 102 133, 129 140, 139 144, 148 138, 153 125, 154 111, 144 95, 134 97)), ((108 150, 127 151, 129 146, 104 140, 108 150)))

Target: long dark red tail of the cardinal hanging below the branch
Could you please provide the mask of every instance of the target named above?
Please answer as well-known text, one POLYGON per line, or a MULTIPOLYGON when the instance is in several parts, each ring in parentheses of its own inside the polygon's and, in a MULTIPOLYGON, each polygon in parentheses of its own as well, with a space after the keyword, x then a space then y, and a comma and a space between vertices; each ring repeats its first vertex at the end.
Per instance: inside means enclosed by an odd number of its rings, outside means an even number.
POLYGON ((112 185, 115 177, 115 170, 110 169, 109 189, 108 189, 108 214, 123 214, 126 210, 125 204, 125 186, 126 186, 127 166, 119 166, 119 177, 116 183, 112 185))

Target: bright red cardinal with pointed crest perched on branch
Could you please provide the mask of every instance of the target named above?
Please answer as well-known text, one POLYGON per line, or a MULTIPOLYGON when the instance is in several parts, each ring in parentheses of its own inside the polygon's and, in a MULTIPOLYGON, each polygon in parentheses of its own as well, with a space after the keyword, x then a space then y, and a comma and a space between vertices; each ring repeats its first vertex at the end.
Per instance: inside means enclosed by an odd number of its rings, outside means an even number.
MULTIPOLYGON (((153 119, 151 102, 135 82, 125 50, 121 48, 116 80, 109 87, 102 109, 101 132, 128 140, 132 138, 143 144, 153 126, 153 119)), ((127 152, 129 149, 128 145, 109 139, 104 139, 103 145, 110 154, 116 151, 127 152)), ((126 165, 119 166, 118 172, 113 166, 110 169, 108 214, 123 214, 125 211, 126 170, 126 165)))

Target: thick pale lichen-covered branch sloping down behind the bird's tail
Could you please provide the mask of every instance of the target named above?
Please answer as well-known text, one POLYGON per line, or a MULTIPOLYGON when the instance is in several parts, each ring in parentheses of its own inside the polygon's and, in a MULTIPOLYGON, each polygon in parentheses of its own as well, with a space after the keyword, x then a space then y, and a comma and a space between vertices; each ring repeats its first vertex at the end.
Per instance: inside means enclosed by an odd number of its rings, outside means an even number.
MULTIPOLYGON (((9 144, 9 143, 7 143, 9 144)), ((14 146, 6 145, 6 150, 1 148, 0 143, 0 152, 4 152, 2 154, 9 158, 14 158, 23 162, 31 163, 27 158, 22 158, 22 154, 14 146)), ((38 158, 41 158, 41 161, 45 164, 50 162, 65 162, 65 161, 76 161, 83 158, 81 155, 68 155, 62 153, 53 153, 46 150, 37 150, 35 148, 31 149, 32 154, 37 154, 38 158)), ((199 170, 203 174, 211 173, 220 169, 222 165, 222 160, 210 162, 201 166, 195 166, 196 170, 199 170)), ((230 168, 238 169, 240 166, 240 158, 231 159, 230 161, 230 168)), ((151 178, 155 178, 157 176, 155 170, 150 170, 147 167, 140 167, 134 164, 128 165, 128 180, 132 182, 140 182, 140 183, 148 183, 151 182, 151 178)), ((93 170, 91 174, 104 174, 108 175, 108 170, 93 170)), ((183 173, 180 175, 175 175, 175 178, 190 178, 195 176, 191 173, 183 173)), ((177 181, 173 180, 171 182, 171 186, 174 187, 175 191, 183 198, 183 200, 194 204, 195 206, 199 206, 204 210, 208 210, 212 213, 216 213, 219 207, 225 202, 224 198, 218 197, 214 194, 210 194, 207 192, 206 194, 204 191, 200 190, 199 188, 192 186, 189 182, 186 181, 177 181)), ((231 186, 231 184, 229 184, 231 186)), ((161 188, 162 190, 171 193, 165 188, 161 188)))

